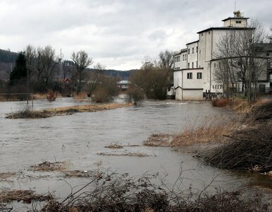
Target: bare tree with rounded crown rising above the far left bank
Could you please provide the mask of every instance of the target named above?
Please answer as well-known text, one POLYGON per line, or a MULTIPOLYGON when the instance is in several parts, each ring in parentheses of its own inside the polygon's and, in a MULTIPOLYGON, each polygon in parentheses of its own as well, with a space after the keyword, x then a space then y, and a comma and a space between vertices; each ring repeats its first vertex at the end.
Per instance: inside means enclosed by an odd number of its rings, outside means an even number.
POLYGON ((87 52, 80 50, 79 52, 73 52, 71 59, 75 64, 75 84, 77 93, 80 93, 82 89, 82 80, 84 79, 85 69, 93 63, 92 58, 89 58, 87 52))

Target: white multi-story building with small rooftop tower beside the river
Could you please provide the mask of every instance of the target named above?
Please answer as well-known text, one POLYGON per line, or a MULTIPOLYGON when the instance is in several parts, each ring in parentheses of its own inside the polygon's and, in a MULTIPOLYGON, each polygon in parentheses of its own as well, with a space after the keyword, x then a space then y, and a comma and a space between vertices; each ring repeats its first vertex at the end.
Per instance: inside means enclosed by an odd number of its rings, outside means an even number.
MULTIPOLYGON (((213 77, 220 63, 214 56, 216 45, 230 30, 249 30, 247 19, 235 12, 234 17, 222 20, 223 27, 199 31, 199 40, 187 43, 186 49, 175 52, 173 78, 176 100, 202 100, 206 93, 223 93, 223 85, 216 83, 213 77)), ((269 86, 268 81, 264 83, 269 86)))

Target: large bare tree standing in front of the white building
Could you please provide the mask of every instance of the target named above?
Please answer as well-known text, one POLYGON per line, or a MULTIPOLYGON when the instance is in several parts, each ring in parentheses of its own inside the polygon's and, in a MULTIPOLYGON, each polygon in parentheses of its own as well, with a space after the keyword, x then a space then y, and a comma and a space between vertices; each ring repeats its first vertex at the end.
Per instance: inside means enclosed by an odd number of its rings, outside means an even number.
POLYGON ((214 54, 218 60, 214 78, 223 84, 227 97, 240 81, 248 100, 256 100, 257 83, 265 72, 266 64, 259 44, 265 40, 264 27, 256 20, 252 20, 246 30, 233 28, 221 37, 214 54))

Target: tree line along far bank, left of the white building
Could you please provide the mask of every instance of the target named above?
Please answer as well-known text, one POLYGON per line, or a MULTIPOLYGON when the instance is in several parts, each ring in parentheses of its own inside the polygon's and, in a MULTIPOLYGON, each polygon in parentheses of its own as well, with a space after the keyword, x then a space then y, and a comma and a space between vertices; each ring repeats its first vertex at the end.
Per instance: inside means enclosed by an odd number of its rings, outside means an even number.
MULTIPOLYGON (((61 60, 50 45, 27 45, 23 52, 18 52, 8 83, 1 81, 0 92, 47 93, 53 90, 67 95, 85 91, 96 102, 110 101, 118 94, 116 73, 99 63, 89 69, 93 63, 92 57, 83 50, 73 52, 70 60, 61 60)), ((173 53, 168 50, 160 52, 159 61, 146 59, 140 70, 132 70, 130 76, 125 76, 131 81, 128 93, 165 99, 166 90, 173 83, 173 65, 173 53)))

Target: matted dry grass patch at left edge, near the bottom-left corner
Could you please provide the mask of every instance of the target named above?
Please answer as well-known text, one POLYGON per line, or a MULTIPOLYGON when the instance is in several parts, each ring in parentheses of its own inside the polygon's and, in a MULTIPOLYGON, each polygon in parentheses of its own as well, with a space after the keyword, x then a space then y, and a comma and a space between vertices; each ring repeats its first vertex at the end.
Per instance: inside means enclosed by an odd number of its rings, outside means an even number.
POLYGON ((50 195, 35 194, 32 190, 4 190, 0 192, 0 203, 8 203, 11 201, 23 201, 30 204, 31 201, 46 201, 51 199, 50 195))

